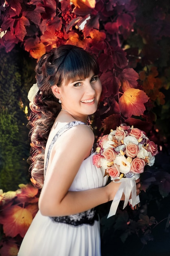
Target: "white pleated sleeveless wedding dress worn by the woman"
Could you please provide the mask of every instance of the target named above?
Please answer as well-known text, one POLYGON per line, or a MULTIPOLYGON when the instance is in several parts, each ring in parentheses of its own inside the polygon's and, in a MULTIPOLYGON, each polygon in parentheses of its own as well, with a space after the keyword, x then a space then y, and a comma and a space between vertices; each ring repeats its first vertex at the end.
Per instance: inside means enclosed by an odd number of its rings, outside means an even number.
MULTIPOLYGON (((84 123, 71 122, 61 128, 57 134, 61 135, 78 124, 84 123)), ((58 135, 51 145, 59 137, 58 135)), ((70 191, 105 186, 107 182, 107 177, 103 177, 105 170, 93 165, 94 154, 92 153, 81 164, 70 191)), ((100 226, 99 221, 96 220, 98 215, 94 213, 95 209, 91 209, 75 215, 50 218, 42 216, 38 211, 24 236, 18 256, 100 256, 100 226)))

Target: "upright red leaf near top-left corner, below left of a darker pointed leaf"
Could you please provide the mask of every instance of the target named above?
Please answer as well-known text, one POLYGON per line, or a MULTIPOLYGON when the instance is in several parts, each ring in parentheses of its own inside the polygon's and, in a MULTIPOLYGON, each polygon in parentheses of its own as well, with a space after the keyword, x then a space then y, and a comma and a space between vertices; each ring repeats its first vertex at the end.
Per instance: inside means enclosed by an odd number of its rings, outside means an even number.
POLYGON ((19 38, 21 41, 24 40, 24 37, 26 35, 26 28, 25 26, 30 25, 29 20, 22 16, 20 19, 17 20, 17 24, 15 26, 15 36, 19 38))

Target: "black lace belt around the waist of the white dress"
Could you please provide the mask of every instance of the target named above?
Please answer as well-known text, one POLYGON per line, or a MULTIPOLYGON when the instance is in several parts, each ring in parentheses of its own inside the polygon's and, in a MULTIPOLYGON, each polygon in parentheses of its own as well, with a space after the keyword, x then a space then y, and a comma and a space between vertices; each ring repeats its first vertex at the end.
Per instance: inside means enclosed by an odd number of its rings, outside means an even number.
POLYGON ((72 226, 82 224, 93 225, 95 220, 98 220, 98 214, 95 208, 82 213, 77 213, 69 216, 50 217, 55 222, 65 223, 72 226))

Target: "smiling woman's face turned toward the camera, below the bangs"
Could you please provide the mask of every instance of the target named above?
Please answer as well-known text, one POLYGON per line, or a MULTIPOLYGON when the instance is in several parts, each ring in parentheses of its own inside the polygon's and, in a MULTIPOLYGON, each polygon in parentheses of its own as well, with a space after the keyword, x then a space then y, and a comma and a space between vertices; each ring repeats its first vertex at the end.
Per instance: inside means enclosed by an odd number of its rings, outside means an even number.
POLYGON ((100 79, 92 71, 86 79, 71 81, 67 85, 63 81, 60 87, 61 107, 82 119, 96 112, 101 92, 100 79))

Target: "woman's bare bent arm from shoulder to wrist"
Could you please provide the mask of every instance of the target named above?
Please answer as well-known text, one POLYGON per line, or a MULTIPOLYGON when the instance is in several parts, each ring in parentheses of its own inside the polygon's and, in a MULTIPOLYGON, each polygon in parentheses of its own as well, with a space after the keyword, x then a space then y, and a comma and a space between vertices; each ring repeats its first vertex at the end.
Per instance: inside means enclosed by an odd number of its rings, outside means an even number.
POLYGON ((43 215, 76 214, 113 200, 120 183, 111 182, 105 187, 86 191, 68 191, 83 160, 88 157, 93 141, 94 134, 85 125, 75 126, 57 140, 39 197, 43 215))

